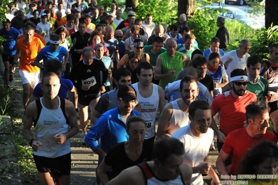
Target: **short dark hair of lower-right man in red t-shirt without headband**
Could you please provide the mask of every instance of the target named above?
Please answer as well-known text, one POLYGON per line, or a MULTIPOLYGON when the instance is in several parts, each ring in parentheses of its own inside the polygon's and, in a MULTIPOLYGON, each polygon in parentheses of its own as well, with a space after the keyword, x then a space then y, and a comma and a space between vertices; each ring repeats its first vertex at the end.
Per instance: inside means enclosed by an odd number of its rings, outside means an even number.
POLYGON ((247 120, 248 124, 248 119, 252 118, 255 120, 257 115, 260 115, 261 113, 265 111, 270 111, 270 107, 268 106, 267 103, 264 101, 258 100, 257 102, 252 102, 251 104, 247 105, 245 107, 246 113, 245 113, 245 118, 247 120))

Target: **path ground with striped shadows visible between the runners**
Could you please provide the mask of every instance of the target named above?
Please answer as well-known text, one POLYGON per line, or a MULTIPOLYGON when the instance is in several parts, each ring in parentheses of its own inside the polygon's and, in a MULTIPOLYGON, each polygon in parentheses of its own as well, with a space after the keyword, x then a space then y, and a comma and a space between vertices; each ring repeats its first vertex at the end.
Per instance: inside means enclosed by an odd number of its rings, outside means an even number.
MULTIPOLYGON (((0 65, 1 67, 1 65, 0 65)), ((1 70, 1 68, 0 68, 1 70)), ((3 81, 0 79, 0 84, 3 84, 3 81)), ((18 70, 16 71, 14 81, 10 83, 12 90, 12 99, 13 104, 16 104, 13 108, 12 118, 17 119, 17 121, 22 122, 23 108, 22 108, 22 84, 20 82, 20 77, 18 75, 18 70)), ((98 164, 98 155, 94 154, 91 148, 80 143, 80 138, 82 136, 81 129, 79 134, 75 137, 70 138, 72 145, 72 171, 71 171, 71 182, 72 184, 93 184, 95 182, 95 168, 98 164)), ((217 158, 218 152, 210 152, 210 160, 213 163, 213 168, 215 168, 215 161, 217 158)), ((207 182, 210 182, 210 177, 206 176, 204 179, 207 179, 207 182)), ((28 184, 31 185, 31 184, 28 184)))

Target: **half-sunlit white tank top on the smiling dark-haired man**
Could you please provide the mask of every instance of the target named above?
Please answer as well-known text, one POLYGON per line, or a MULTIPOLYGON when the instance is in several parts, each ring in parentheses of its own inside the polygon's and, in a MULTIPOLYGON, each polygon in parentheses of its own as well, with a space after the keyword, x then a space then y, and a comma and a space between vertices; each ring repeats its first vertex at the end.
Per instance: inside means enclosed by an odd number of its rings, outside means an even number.
POLYGON ((190 118, 188 113, 185 113, 180 110, 178 107, 178 99, 170 102, 173 106, 172 117, 169 120, 168 134, 172 135, 177 129, 185 127, 187 124, 190 124, 190 118))

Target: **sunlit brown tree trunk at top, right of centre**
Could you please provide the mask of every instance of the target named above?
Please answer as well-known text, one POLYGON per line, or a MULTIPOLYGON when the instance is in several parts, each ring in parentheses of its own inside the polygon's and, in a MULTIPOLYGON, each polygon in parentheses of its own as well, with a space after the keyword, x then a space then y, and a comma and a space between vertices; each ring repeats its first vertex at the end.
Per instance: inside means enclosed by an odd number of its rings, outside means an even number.
POLYGON ((195 10, 195 0, 178 0, 178 16, 184 13, 187 17, 192 17, 195 10))

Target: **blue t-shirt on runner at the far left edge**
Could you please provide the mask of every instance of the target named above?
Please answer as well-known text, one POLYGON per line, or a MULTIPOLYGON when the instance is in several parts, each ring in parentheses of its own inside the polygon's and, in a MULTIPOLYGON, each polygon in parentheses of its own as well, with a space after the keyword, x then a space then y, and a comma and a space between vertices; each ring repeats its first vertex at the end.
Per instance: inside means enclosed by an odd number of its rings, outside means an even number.
POLYGON ((7 55, 15 55, 15 44, 17 43, 17 37, 20 35, 20 32, 17 29, 10 27, 10 31, 6 31, 6 29, 0 30, 0 36, 6 39, 2 45, 4 49, 4 54, 7 55))

